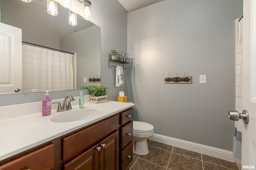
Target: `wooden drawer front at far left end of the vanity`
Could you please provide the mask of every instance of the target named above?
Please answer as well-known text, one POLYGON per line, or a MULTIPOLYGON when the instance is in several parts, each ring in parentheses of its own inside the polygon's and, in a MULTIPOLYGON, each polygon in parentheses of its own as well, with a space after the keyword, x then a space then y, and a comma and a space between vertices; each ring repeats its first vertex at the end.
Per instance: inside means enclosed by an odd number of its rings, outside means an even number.
POLYGON ((50 170, 54 167, 54 144, 35 150, 0 166, 0 170, 50 170))

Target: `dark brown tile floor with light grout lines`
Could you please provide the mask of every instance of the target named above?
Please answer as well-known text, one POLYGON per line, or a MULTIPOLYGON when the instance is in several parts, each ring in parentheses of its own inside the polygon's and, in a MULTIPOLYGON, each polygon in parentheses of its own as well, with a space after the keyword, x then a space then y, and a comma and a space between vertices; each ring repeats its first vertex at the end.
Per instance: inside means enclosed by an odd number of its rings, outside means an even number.
POLYGON ((239 170, 234 162, 148 141, 149 154, 133 154, 126 170, 239 170))

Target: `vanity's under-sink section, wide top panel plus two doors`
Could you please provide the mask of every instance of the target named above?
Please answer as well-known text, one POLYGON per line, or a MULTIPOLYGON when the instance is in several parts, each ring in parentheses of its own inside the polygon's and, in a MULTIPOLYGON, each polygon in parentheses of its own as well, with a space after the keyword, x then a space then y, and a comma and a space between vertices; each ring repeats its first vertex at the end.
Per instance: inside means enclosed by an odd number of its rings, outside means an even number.
POLYGON ((118 170, 119 116, 115 115, 63 139, 64 170, 118 170), (114 133, 113 133, 114 132, 114 133), (112 133, 112 134, 111 134, 112 133), (110 135, 109 135, 110 134, 110 135), (102 139, 101 141, 98 141, 102 139), (95 145, 95 143, 97 143, 95 145), (93 147, 89 147, 93 145, 93 147))

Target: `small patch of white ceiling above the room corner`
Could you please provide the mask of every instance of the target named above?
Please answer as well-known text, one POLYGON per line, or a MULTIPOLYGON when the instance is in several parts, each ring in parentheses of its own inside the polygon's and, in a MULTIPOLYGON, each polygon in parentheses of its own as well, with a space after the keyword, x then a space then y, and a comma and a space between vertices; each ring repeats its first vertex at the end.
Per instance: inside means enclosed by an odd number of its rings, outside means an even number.
POLYGON ((138 10, 145 6, 149 6, 162 0, 118 0, 120 4, 128 11, 138 10))

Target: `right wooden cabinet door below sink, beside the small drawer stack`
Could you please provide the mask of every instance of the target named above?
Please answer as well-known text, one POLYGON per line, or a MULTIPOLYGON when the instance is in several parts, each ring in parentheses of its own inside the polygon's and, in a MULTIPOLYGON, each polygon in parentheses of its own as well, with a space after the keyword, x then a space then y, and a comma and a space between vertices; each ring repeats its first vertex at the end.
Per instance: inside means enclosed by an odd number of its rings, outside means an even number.
POLYGON ((100 170, 118 170, 119 132, 116 131, 100 143, 100 170))

